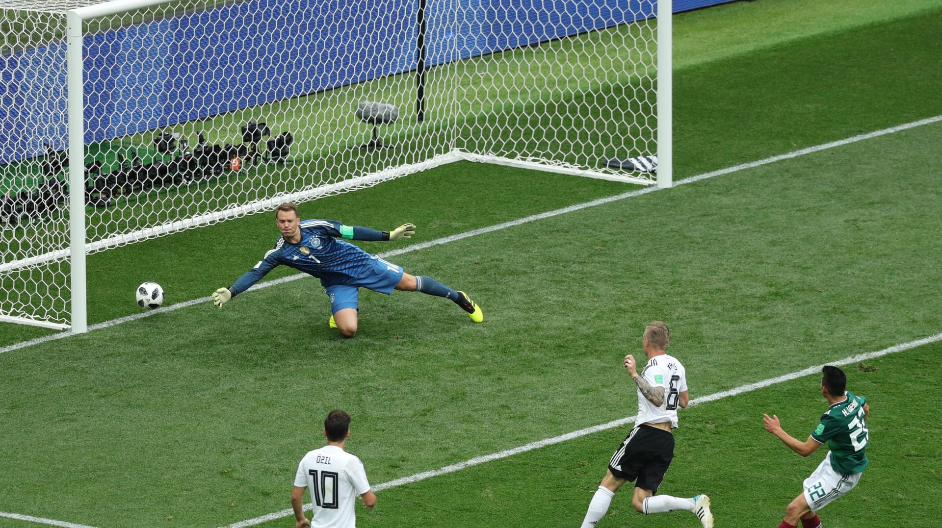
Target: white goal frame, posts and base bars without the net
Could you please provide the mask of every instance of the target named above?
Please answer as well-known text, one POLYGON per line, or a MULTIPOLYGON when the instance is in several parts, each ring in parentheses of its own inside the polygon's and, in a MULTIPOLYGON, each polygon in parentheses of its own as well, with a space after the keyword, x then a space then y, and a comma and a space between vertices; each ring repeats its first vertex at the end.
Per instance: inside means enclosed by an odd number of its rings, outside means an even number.
MULTIPOLYGON (((653 0, 654 1, 654 0, 653 0)), ((67 57, 67 90, 68 90, 68 158, 76 160, 71 163, 68 170, 69 191, 69 240, 68 249, 49 251, 41 256, 34 256, 0 264, 0 273, 24 266, 43 264, 54 260, 68 258, 71 264, 70 273, 70 315, 71 325, 42 321, 22 316, 7 315, 0 312, 0 321, 21 323, 43 328, 70 329, 73 333, 88 331, 88 284, 86 255, 89 252, 115 246, 112 239, 98 240, 89 243, 86 226, 86 173, 84 160, 86 156, 85 145, 85 85, 83 72, 83 38, 85 36, 85 23, 108 15, 119 14, 139 8, 152 8, 169 3, 170 0, 112 0, 110 2, 73 8, 66 11, 66 57, 67 57)), ((247 214, 273 209, 278 204, 288 200, 305 201, 321 196, 336 194, 338 187, 360 188, 368 184, 389 180, 398 175, 410 174, 420 170, 440 167, 456 161, 475 161, 492 163, 516 168, 528 168, 570 174, 591 178, 614 180, 632 184, 657 184, 658 187, 670 187, 673 184, 673 0, 657 1, 657 122, 656 130, 658 168, 656 180, 642 178, 630 174, 618 174, 609 171, 598 171, 586 168, 575 168, 566 164, 541 163, 521 159, 511 159, 499 155, 466 152, 453 148, 450 152, 437 154, 430 159, 392 168, 385 168, 380 172, 345 180, 335 184, 318 186, 315 189, 301 190, 295 193, 278 196, 268 200, 253 201, 210 212, 204 215, 192 216, 160 225, 154 228, 139 230, 130 234, 121 235, 121 244, 128 244, 166 234, 182 231, 190 227, 204 226, 224 219, 245 216, 247 214)))

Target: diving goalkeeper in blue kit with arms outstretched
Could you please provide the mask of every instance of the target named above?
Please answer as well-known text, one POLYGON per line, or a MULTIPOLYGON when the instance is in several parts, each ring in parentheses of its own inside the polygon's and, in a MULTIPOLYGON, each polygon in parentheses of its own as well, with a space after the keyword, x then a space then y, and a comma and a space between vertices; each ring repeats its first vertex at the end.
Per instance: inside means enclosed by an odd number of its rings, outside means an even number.
POLYGON ((399 240, 415 232, 412 224, 403 224, 392 232, 379 232, 369 228, 345 226, 333 220, 300 221, 298 206, 283 203, 275 211, 278 230, 282 235, 275 241, 258 264, 235 280, 228 288, 213 293, 213 304, 222 307, 229 300, 248 290, 279 264, 300 269, 320 279, 331 298, 330 326, 345 337, 353 337, 357 330, 357 307, 360 288, 380 292, 387 296, 393 290, 422 292, 430 296, 451 299, 462 307, 475 323, 484 320, 477 303, 464 292, 458 292, 430 277, 409 275, 396 264, 388 263, 363 249, 338 240, 399 240))

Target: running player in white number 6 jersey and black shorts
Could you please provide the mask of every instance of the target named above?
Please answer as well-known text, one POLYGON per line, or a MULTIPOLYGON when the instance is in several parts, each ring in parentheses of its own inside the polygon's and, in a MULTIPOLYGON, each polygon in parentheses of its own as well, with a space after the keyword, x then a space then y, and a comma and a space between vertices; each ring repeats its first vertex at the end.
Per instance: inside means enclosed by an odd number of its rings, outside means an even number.
POLYGON ((713 528, 707 495, 690 499, 655 495, 674 458, 672 429, 677 426, 677 408, 687 408, 690 403, 684 365, 665 351, 670 338, 667 325, 660 321, 648 323, 642 337, 648 361, 640 375, 634 356, 625 356, 625 368, 638 387, 638 417, 635 428, 611 456, 609 471, 595 490, 582 528, 593 528, 605 516, 615 491, 628 481, 636 481, 631 504, 639 513, 689 511, 704 528, 713 528))

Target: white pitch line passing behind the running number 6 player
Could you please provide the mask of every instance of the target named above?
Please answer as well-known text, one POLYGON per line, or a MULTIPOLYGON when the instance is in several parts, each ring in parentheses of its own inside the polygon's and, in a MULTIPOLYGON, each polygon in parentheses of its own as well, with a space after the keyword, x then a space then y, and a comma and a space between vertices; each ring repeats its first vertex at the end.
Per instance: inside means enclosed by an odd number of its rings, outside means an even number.
MULTIPOLYGON (((798 372, 793 372, 791 374, 787 374, 784 376, 771 377, 769 379, 758 381, 756 383, 748 383, 746 385, 740 385, 739 387, 735 389, 730 389, 729 391, 714 392, 707 396, 700 396, 699 398, 693 398, 692 400, 690 400, 690 406, 692 407, 692 406, 702 405, 707 402, 714 402, 716 400, 728 398, 730 396, 736 396, 745 392, 757 391, 759 389, 769 387, 770 385, 783 383, 785 381, 797 379, 802 376, 809 376, 812 374, 817 374, 817 373, 820 373, 821 367, 823 367, 824 365, 841 366, 841 365, 847 365, 850 363, 855 363, 857 361, 872 360, 874 358, 879 358, 887 354, 893 354, 895 352, 902 352, 903 350, 909 350, 911 348, 916 348, 917 346, 922 346, 923 344, 930 344, 930 343, 935 343, 938 341, 942 341, 942 333, 937 333, 934 336, 925 337, 922 339, 918 339, 916 341, 910 341, 909 343, 896 344, 894 346, 890 346, 889 348, 884 348, 883 350, 878 350, 876 352, 868 352, 866 354, 857 354, 855 356, 851 356, 850 358, 844 358, 843 360, 830 361, 830 362, 823 363, 820 365, 815 365, 813 367, 808 367, 806 369, 800 370, 798 372)), ((372 487, 372 489, 374 491, 381 491, 382 489, 398 488, 399 486, 404 486, 406 484, 413 484, 415 482, 419 482, 421 480, 425 480, 433 476, 439 476, 439 475, 444 475, 447 473, 457 472, 466 468, 470 468, 472 466, 483 464, 484 462, 491 462, 493 460, 507 458, 508 456, 519 455, 521 453, 533 451, 534 449, 546 447, 547 445, 561 443, 566 440, 574 440, 579 437, 584 437, 586 435, 591 435, 593 433, 605 431, 608 429, 612 429, 614 427, 619 427, 621 425, 631 424, 635 421, 635 418, 636 417, 634 416, 630 416, 628 418, 613 420, 607 424, 593 425, 592 427, 579 429, 578 431, 566 433, 558 437, 533 441, 526 445, 521 445, 520 447, 514 447, 506 451, 501 451, 500 453, 493 453, 491 455, 484 455, 484 456, 475 456, 474 458, 470 458, 468 460, 464 460, 463 462, 458 462, 457 464, 452 464, 450 466, 445 466, 444 468, 439 468, 437 470, 415 473, 414 475, 404 476, 402 478, 397 478, 395 480, 383 482, 382 484, 372 487)), ((310 511, 311 504, 310 503, 304 504, 304 510, 310 511)), ((255 519, 241 520, 239 522, 235 522, 234 524, 229 524, 227 526, 224 526, 223 528, 247 528, 248 526, 255 526, 256 524, 268 522, 269 520, 282 519, 289 515, 294 515, 294 510, 288 508, 281 511, 272 512, 272 513, 269 513, 268 515, 256 517, 255 519)))

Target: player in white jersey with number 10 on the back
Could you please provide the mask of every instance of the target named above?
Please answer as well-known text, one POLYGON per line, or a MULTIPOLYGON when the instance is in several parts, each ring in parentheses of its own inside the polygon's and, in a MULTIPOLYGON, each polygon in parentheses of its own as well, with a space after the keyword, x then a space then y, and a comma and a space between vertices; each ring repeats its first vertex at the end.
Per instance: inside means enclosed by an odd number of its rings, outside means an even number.
POLYGON ((354 528, 356 498, 363 500, 366 509, 376 505, 376 495, 369 489, 363 462, 344 451, 350 436, 349 424, 349 414, 332 410, 324 420, 327 445, 301 458, 291 491, 296 528, 354 528), (311 520, 304 517, 305 488, 311 490, 311 520))

